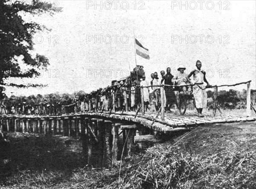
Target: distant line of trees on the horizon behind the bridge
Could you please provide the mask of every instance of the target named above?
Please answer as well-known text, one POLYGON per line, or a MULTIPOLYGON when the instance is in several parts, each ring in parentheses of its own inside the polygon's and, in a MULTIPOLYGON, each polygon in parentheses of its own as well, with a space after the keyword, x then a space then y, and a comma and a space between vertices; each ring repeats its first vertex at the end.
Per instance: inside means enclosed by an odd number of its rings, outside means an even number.
MULTIPOLYGON (((40 103, 47 103, 51 105, 68 105, 73 103, 76 100, 80 100, 81 97, 85 96, 84 91, 75 92, 73 94, 59 94, 58 92, 52 94, 37 94, 26 96, 15 96, 12 95, 11 97, 5 97, 1 101, 1 105, 6 106, 7 109, 11 108, 12 106, 19 106, 23 103, 26 103, 26 106, 34 106, 40 103)), ((208 90, 207 91, 208 97, 208 107, 213 105, 213 97, 214 92, 208 90)), ((82 98, 84 99, 84 98, 82 98)), ((86 100, 86 99, 84 99, 86 100)), ((256 90, 251 90, 251 101, 253 106, 256 106, 256 90)), ((243 91, 236 91, 230 89, 229 91, 221 90, 218 92, 217 97, 217 105, 222 109, 245 109, 246 108, 246 90, 243 91)))

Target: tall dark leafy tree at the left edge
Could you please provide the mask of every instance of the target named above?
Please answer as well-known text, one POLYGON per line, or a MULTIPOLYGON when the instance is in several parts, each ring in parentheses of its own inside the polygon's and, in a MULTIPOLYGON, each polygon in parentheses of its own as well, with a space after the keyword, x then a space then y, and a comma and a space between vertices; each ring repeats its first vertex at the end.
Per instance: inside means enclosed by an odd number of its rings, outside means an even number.
POLYGON ((49 60, 44 55, 36 54, 32 57, 33 35, 38 31, 48 30, 45 26, 23 20, 24 15, 36 15, 49 13, 50 15, 61 11, 53 4, 32 0, 26 1, 0 0, 0 99, 4 97, 5 86, 36 87, 41 84, 7 83, 6 79, 32 78, 40 75, 38 69, 47 69, 49 60), (18 63, 18 57, 28 69, 22 71, 18 63))

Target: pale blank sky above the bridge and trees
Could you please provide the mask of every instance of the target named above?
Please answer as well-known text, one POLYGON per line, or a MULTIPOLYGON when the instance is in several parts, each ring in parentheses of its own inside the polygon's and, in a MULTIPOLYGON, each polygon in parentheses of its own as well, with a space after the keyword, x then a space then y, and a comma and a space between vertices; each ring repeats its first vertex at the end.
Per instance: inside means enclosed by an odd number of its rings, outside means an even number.
MULTIPOLYGON (((47 1, 49 2, 49 1, 47 1)), ((62 12, 26 17, 51 31, 34 36, 32 54, 49 58, 40 78, 10 80, 47 87, 6 88, 6 94, 91 92, 128 76, 136 63, 146 79, 180 64, 186 72, 197 60, 211 85, 252 80, 256 89, 256 1, 50 1, 62 12), (150 60, 135 55, 134 35, 150 60)), ((246 85, 219 90, 246 89, 246 85)))

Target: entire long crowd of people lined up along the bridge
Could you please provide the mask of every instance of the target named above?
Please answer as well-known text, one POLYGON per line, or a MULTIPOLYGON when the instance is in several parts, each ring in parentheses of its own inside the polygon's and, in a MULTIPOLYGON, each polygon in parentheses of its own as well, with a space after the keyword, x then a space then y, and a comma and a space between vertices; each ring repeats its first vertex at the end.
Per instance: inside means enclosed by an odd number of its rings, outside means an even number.
POLYGON ((171 112, 172 105, 178 106, 179 95, 193 94, 198 116, 203 117, 202 110, 207 106, 207 93, 204 82, 209 83, 205 77, 206 73, 201 70, 202 63, 198 60, 196 68, 189 74, 184 71, 186 67, 180 65, 178 74, 172 75, 168 67, 161 71, 161 78, 157 72, 151 74, 151 81, 148 82, 145 77, 143 66, 137 66, 131 76, 124 80, 112 81, 111 86, 100 88, 90 94, 80 95, 77 98, 61 100, 57 104, 40 103, 37 105, 26 105, 10 108, 11 114, 20 115, 60 115, 67 113, 88 112, 88 111, 136 111, 141 104, 141 90, 143 90, 143 101, 145 111, 149 109, 158 111, 161 107, 160 87, 164 87, 165 111, 171 112), (193 77, 193 79, 191 79, 193 77))

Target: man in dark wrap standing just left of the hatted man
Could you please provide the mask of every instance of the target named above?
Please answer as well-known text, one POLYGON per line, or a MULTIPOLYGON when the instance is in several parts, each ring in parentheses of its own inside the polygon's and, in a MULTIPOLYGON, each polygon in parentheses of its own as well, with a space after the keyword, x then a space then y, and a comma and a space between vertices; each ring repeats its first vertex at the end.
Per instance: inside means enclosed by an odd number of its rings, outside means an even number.
POLYGON ((164 84, 167 86, 164 86, 164 91, 165 91, 165 95, 166 95, 166 111, 171 112, 171 107, 173 103, 176 103, 176 97, 175 97, 175 93, 172 90, 172 86, 168 86, 168 85, 173 85, 172 83, 172 78, 174 77, 171 74, 171 69, 167 68, 166 69, 166 74, 163 75, 161 83, 163 83, 164 80, 164 84))

